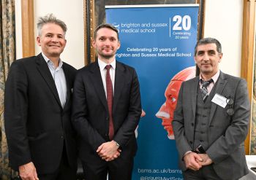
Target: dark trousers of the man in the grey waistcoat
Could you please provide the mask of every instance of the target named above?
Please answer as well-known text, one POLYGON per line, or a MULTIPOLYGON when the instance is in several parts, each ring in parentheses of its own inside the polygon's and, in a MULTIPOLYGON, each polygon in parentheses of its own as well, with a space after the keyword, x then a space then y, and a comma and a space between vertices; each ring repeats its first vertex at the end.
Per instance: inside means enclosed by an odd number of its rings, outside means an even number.
POLYGON ((183 172, 184 180, 221 180, 212 165, 206 165, 198 171, 187 169, 183 172))

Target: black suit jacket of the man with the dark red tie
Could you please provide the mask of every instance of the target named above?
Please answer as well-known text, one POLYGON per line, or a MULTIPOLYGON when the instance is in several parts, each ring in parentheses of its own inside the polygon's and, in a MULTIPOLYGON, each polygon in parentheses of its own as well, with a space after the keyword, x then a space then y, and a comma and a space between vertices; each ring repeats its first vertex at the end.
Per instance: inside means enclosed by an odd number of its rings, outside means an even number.
MULTIPOLYGON (((135 128, 141 114, 140 87, 135 69, 117 61, 115 76, 113 140, 121 145, 121 156, 131 158, 137 150, 135 128)), ((73 97, 72 123, 81 138, 80 157, 85 162, 102 162, 96 150, 109 141, 109 114, 97 61, 78 71, 73 97)))

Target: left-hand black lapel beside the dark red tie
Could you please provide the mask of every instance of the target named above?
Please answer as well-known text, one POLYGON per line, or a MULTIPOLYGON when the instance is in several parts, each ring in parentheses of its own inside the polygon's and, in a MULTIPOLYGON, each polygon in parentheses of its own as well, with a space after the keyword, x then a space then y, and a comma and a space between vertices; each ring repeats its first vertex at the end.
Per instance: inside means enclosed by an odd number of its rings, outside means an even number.
POLYGON ((108 111, 108 103, 105 95, 105 90, 102 82, 102 75, 100 74, 98 62, 91 64, 91 82, 94 86, 95 92, 97 93, 102 105, 105 106, 106 111, 108 111))

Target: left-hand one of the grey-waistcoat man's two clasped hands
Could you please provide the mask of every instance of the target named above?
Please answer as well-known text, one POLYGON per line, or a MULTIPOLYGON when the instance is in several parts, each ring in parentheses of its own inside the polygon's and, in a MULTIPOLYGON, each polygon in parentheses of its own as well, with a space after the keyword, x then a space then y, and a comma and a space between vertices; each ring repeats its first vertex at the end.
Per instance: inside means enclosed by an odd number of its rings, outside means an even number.
POLYGON ((189 169, 192 169, 193 171, 197 171, 200 168, 202 168, 201 161, 203 159, 200 157, 199 154, 195 152, 189 152, 184 156, 184 162, 186 164, 186 167, 189 169))

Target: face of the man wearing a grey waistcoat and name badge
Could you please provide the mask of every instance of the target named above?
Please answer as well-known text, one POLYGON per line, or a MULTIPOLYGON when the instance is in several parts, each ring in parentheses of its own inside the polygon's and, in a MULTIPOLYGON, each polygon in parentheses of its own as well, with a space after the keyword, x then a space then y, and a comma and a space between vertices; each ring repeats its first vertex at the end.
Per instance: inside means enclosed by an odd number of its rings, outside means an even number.
POLYGON ((212 77, 219 70, 222 53, 217 52, 217 45, 214 43, 201 44, 197 47, 197 53, 194 58, 200 73, 212 77))

